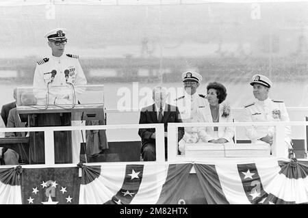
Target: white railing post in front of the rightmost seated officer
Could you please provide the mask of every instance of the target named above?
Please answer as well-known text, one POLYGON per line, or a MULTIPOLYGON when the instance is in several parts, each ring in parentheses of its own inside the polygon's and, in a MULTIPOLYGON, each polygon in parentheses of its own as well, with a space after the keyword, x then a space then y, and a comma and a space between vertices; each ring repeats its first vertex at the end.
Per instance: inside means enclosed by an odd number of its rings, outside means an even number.
POLYGON ((276 124, 276 134, 274 136, 274 141, 272 144, 272 155, 276 157, 283 157, 285 156, 285 150, 287 149, 285 144, 285 124, 277 123, 276 124))

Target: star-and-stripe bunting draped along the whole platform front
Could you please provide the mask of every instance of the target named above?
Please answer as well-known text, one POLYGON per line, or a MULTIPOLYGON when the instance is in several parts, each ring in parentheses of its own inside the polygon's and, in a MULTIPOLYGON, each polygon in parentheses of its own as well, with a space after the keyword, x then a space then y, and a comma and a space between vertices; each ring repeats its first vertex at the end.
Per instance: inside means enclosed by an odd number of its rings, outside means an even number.
POLYGON ((81 178, 78 167, 34 167, 0 168, 0 204, 308 203, 307 161, 103 163, 79 165, 81 178))

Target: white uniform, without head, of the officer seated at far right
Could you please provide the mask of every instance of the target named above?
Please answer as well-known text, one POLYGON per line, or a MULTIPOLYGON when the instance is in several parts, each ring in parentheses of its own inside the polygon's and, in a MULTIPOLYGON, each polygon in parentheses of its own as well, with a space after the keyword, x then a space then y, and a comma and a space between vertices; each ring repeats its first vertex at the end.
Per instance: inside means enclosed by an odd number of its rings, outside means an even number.
MULTIPOLYGON (((243 114, 244 122, 289 122, 290 118, 281 100, 257 100, 255 103, 246 105, 243 114)), ((274 126, 246 126, 246 135, 253 143, 261 143, 259 139, 266 135, 274 136, 274 126)), ((288 148, 292 148, 291 126, 285 126, 285 157, 288 156, 288 148)), ((262 141, 263 142, 263 141, 262 141)), ((274 143, 274 142, 273 142, 274 143)))

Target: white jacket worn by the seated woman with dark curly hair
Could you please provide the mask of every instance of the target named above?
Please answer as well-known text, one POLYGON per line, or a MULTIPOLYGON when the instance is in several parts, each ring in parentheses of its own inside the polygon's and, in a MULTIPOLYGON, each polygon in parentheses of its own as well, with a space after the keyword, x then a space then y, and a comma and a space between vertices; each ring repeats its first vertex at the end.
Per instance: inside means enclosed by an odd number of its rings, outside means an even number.
MULTIPOLYGON (((222 116, 223 114, 222 105, 219 106, 219 122, 233 122, 231 111, 227 117, 222 116)), ((213 123, 213 118, 211 116, 211 109, 209 107, 200 107, 197 109, 198 112, 198 122, 209 122, 213 123)), ((206 126, 198 128, 198 136, 203 141, 208 142, 213 139, 223 138, 227 139, 231 144, 233 144, 234 136, 233 126, 218 126, 218 131, 214 131, 214 126, 206 126), (216 134, 217 133, 217 134, 216 134)))

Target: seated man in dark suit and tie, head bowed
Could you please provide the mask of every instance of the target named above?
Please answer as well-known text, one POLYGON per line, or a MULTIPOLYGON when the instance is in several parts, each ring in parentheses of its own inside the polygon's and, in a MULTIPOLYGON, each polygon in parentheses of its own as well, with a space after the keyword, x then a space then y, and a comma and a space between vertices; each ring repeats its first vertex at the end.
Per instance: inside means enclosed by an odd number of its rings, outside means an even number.
MULTIPOLYGON (((167 125, 168 122, 182 122, 179 109, 166 104, 168 92, 166 88, 157 86, 153 89, 154 104, 142 108, 139 124, 164 123, 165 129, 165 158, 167 158, 167 125)), ((155 161, 155 128, 140 128, 138 131, 142 139, 141 154, 144 161, 155 161)), ((184 135, 184 128, 179 127, 178 141, 184 135)))

